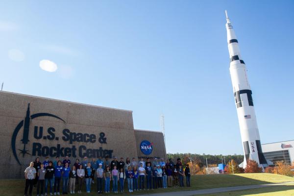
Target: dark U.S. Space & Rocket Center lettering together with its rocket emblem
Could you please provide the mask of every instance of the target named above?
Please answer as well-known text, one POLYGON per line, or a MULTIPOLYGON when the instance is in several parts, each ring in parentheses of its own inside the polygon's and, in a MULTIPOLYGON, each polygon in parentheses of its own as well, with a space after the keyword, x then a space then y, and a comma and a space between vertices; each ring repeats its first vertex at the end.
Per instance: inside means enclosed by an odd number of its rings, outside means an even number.
POLYGON ((21 165, 19 158, 24 158, 26 154, 38 157, 112 157, 113 150, 103 149, 102 147, 99 147, 98 149, 92 149, 84 145, 79 145, 76 147, 74 145, 74 143, 78 144, 79 142, 82 142, 83 144, 91 144, 96 143, 96 141, 98 141, 100 144, 107 144, 105 133, 103 132, 100 132, 97 138, 95 134, 76 133, 67 128, 63 129, 62 131, 56 131, 55 128, 52 126, 49 126, 47 128, 43 125, 35 125, 33 127, 33 130, 31 130, 33 132, 30 133, 30 122, 31 120, 38 117, 55 118, 58 119, 61 123, 66 123, 60 117, 49 113, 36 113, 30 115, 30 104, 28 103, 25 120, 22 120, 20 123, 18 123, 18 125, 14 129, 11 139, 12 152, 18 164, 21 165), (23 130, 23 134, 19 134, 21 133, 21 130, 23 130), (62 134, 62 136, 57 137, 60 134, 62 134), (30 140, 29 137, 33 137, 32 140, 30 140), (57 142, 59 140, 62 141, 57 142), (46 146, 44 145, 44 143, 50 146, 46 146), (54 146, 54 144, 56 145, 54 146), (31 149, 29 149, 30 147, 31 149))

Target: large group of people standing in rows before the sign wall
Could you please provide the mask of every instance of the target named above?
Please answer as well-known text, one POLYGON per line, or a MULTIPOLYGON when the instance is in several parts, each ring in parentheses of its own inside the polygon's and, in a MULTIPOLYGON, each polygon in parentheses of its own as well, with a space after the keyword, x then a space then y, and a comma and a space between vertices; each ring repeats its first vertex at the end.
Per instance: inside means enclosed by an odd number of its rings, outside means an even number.
POLYGON ((77 193, 82 193, 83 184, 86 185, 86 192, 91 192, 91 184, 97 179, 97 193, 102 193, 104 183, 104 193, 110 193, 110 182, 112 181, 112 192, 124 192, 124 184, 127 182, 128 192, 138 190, 150 190, 157 188, 167 188, 172 186, 184 186, 184 176, 186 176, 186 186, 190 186, 190 168, 189 164, 184 169, 180 158, 174 164, 171 159, 164 161, 154 158, 151 162, 149 158, 145 162, 143 158, 136 161, 132 158, 123 157, 120 161, 117 157, 113 157, 110 161, 106 156, 103 161, 101 157, 92 161, 88 157, 80 162, 75 160, 72 165, 68 156, 61 162, 59 157, 55 161, 49 161, 49 157, 45 158, 43 163, 37 157, 35 162, 31 162, 29 167, 25 169, 25 196, 29 191, 32 195, 33 186, 37 187, 37 196, 47 196, 48 187, 49 195, 60 195, 60 182, 62 180, 62 194, 75 193, 75 185, 77 185, 77 193), (29 189, 29 190, 28 190, 29 189), (53 192, 54 191, 54 192, 53 192))

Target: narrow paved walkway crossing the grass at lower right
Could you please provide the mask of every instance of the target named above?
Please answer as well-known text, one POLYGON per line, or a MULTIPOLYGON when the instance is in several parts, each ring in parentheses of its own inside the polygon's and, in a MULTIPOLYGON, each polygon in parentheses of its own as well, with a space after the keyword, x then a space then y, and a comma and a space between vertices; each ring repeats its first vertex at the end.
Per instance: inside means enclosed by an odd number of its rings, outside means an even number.
POLYGON ((286 184, 294 185, 294 182, 262 184, 262 185, 246 185, 246 186, 224 187, 224 188, 215 188, 215 189, 201 189, 201 190, 195 190, 195 191, 156 193, 156 194, 145 194, 145 195, 139 195, 139 196, 195 196, 195 195, 201 195, 201 194, 222 193, 222 192, 229 192, 229 191, 241 191, 246 189, 258 189, 258 188, 265 188, 265 187, 272 187, 272 186, 281 186, 286 184))

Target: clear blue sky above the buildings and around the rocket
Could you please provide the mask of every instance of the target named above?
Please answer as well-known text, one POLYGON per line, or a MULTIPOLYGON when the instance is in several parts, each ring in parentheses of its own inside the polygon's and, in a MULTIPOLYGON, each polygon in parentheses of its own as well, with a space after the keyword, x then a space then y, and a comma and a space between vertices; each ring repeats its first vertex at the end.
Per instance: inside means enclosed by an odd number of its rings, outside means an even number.
POLYGON ((228 10, 261 142, 293 140, 294 1, 6 1, 5 91, 133 111, 167 152, 243 153, 229 74, 228 10), (48 59, 56 72, 39 62, 48 59))

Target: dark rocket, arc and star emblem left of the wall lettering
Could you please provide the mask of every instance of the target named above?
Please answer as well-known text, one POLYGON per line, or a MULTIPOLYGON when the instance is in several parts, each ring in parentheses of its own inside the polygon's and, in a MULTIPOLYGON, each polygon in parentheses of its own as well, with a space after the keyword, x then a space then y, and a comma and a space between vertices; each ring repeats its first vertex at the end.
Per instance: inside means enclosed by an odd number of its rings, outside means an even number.
POLYGON ((27 110, 26 110, 26 116, 25 116, 25 122, 24 120, 21 121, 16 128, 14 129, 13 135, 12 135, 12 139, 11 139, 11 148, 12 148, 12 152, 13 155, 15 157, 15 159, 17 160, 17 162, 21 165, 19 158, 17 156, 16 153, 16 137, 19 133, 19 131, 21 130, 21 128, 24 126, 24 133, 23 133, 23 138, 21 139, 21 142, 23 143, 24 147, 23 149, 18 149, 20 152, 20 154, 23 155, 23 157, 25 157, 25 154, 30 154, 29 150, 26 149, 26 145, 28 144, 29 140, 28 140, 28 136, 29 136, 29 124, 30 124, 30 120, 35 119, 37 117, 42 117, 42 116, 49 116, 49 117, 53 117, 56 119, 59 119, 61 121, 63 121, 65 123, 64 120, 62 120, 61 118, 59 118, 58 116, 55 116, 53 114, 49 114, 49 113, 37 113, 37 114, 33 114, 30 116, 30 108, 29 108, 29 104, 27 106, 27 110))

